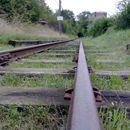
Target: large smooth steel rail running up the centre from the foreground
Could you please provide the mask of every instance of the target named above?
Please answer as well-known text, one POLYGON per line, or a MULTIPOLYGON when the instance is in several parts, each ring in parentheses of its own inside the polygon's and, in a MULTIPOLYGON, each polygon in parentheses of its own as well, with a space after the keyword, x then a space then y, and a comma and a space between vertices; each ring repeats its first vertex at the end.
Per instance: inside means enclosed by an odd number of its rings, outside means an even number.
POLYGON ((101 130, 82 42, 67 130, 101 130))

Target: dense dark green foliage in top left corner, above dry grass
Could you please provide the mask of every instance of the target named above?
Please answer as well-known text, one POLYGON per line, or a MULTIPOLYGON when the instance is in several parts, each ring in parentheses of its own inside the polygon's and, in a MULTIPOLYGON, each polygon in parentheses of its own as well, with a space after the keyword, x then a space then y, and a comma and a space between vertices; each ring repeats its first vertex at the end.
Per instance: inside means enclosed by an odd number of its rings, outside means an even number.
POLYGON ((0 7, 8 14, 9 20, 17 18, 22 22, 37 22, 40 18, 52 17, 43 0, 0 0, 0 7))

